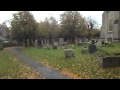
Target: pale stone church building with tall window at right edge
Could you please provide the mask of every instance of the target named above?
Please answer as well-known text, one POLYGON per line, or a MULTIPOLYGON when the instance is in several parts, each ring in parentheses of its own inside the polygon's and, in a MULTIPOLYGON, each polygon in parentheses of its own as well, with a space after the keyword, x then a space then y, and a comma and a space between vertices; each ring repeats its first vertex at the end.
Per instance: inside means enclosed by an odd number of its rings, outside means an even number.
POLYGON ((104 11, 102 14, 101 39, 120 40, 120 11, 104 11))

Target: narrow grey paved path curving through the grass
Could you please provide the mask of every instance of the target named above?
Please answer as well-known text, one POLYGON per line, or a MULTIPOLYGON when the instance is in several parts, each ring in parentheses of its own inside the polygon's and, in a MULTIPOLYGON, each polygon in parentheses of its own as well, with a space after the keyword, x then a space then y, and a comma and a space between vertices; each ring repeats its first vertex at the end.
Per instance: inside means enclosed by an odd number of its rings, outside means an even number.
POLYGON ((48 68, 45 65, 37 63, 36 61, 26 57, 24 54, 21 53, 19 48, 12 48, 11 51, 14 55, 17 55, 21 61, 35 68, 35 70, 45 79, 72 79, 68 76, 61 74, 57 70, 48 68))

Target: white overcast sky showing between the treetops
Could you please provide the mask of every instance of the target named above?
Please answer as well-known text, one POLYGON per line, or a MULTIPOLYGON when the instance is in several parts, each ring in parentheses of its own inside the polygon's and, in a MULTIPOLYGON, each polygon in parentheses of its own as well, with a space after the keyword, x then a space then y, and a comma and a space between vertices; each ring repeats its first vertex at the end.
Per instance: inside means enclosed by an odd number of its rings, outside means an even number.
MULTIPOLYGON (((0 23, 5 20, 12 19, 12 14, 16 11, 0 11, 0 23)), ((43 21, 46 17, 54 16, 58 21, 60 20, 60 14, 64 11, 31 11, 37 22, 43 21)), ((83 17, 91 16, 95 19, 99 25, 102 24, 103 11, 80 11, 83 17)), ((9 26, 9 24, 7 23, 9 26)))

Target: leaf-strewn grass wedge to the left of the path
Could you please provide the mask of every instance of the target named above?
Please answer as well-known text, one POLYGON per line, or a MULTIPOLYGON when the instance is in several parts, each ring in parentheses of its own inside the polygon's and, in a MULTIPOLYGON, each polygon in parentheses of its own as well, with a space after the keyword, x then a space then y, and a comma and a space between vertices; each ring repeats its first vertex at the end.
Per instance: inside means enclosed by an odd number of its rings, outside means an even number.
POLYGON ((0 79, 41 79, 35 70, 22 63, 10 50, 0 51, 0 79))

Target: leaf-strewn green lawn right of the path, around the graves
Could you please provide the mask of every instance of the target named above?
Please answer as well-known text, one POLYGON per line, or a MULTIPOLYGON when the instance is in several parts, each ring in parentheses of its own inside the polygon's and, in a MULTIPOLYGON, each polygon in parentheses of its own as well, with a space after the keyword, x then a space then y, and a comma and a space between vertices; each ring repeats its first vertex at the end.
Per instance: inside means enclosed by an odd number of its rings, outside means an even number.
POLYGON ((104 52, 97 51, 94 54, 82 54, 81 50, 84 46, 75 46, 75 57, 71 59, 64 58, 64 50, 62 49, 48 50, 29 47, 23 49, 22 52, 26 56, 73 78, 120 79, 120 67, 102 69, 98 62, 100 54, 106 54, 107 52, 109 55, 112 55, 112 52, 120 51, 119 46, 120 44, 114 44, 114 47, 98 47, 99 50, 104 52))

